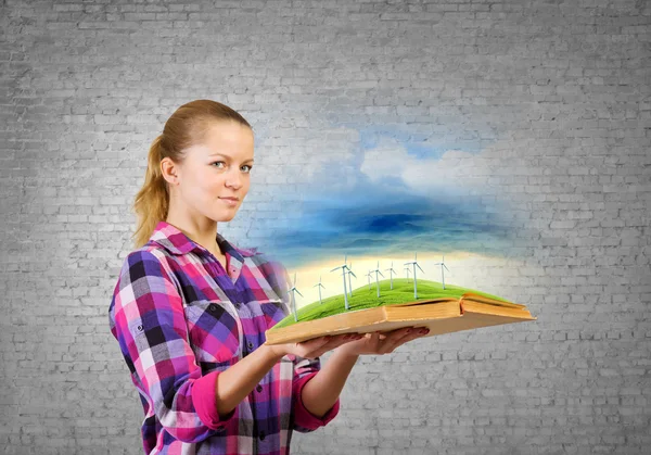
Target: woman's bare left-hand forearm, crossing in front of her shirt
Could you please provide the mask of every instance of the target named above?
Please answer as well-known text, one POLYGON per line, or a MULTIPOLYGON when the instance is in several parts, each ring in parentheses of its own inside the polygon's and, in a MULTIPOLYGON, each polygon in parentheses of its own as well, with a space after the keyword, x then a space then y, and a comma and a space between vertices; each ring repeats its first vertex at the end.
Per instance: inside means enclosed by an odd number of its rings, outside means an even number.
POLYGON ((282 354, 263 344, 217 377, 215 400, 220 416, 230 413, 265 375, 282 358, 282 354))

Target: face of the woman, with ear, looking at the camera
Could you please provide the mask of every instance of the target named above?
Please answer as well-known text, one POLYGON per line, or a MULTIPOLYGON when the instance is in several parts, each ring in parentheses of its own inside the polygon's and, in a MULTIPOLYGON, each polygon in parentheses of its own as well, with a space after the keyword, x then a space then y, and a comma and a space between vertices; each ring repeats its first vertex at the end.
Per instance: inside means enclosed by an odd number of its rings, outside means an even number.
POLYGON ((201 144, 174 165, 170 185, 181 203, 215 222, 231 220, 244 201, 253 167, 253 131, 235 122, 216 122, 201 144))

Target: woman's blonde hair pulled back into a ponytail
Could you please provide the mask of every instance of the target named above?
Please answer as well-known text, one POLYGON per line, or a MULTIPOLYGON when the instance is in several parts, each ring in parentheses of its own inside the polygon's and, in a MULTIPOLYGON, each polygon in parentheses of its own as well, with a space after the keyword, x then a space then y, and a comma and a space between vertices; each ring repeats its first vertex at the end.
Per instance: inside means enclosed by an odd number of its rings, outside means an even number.
POLYGON ((186 103, 165 122, 163 134, 150 147, 144 184, 132 205, 138 216, 138 226, 131 236, 136 249, 144 245, 158 222, 167 218, 169 190, 161 173, 161 161, 169 157, 177 164, 182 163, 186 157, 183 149, 201 143, 208 127, 219 121, 234 121, 253 130, 237 111, 212 100, 186 103))

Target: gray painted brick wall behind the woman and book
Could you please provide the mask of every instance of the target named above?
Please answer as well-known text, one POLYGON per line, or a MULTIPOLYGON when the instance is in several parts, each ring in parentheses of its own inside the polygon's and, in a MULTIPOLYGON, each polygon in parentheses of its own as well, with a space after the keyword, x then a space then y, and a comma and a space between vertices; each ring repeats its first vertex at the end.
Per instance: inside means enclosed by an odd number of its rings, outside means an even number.
POLYGON ((220 227, 242 245, 310 163, 353 166, 352 124, 473 152, 451 173, 511 210, 507 262, 465 271, 538 320, 362 357, 293 453, 649 453, 650 22, 639 0, 2 2, 0 453, 141 453, 106 311, 148 147, 197 98, 256 128, 267 170, 220 227))

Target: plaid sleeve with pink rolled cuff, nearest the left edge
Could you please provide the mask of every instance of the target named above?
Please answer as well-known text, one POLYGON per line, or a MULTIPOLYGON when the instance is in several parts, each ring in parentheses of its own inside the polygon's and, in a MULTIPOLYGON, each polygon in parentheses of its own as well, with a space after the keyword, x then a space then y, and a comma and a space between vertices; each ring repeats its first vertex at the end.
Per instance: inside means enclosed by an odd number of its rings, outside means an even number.
POLYGON ((115 287, 111 331, 145 406, 182 442, 201 442, 233 417, 217 413, 220 371, 202 376, 190 345, 182 298, 171 273, 149 251, 127 256, 115 287))

